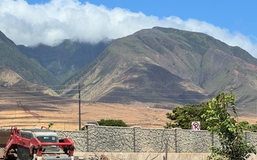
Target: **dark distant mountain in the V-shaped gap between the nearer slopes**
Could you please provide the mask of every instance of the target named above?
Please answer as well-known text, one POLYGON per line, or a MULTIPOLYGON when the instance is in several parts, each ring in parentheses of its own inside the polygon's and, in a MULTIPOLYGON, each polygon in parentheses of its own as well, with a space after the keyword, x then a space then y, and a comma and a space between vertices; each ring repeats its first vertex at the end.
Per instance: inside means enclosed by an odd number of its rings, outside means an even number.
POLYGON ((40 44, 33 47, 18 46, 18 48, 26 57, 37 60, 56 76, 59 83, 62 83, 99 56, 109 43, 111 41, 91 44, 64 40, 58 46, 40 44))

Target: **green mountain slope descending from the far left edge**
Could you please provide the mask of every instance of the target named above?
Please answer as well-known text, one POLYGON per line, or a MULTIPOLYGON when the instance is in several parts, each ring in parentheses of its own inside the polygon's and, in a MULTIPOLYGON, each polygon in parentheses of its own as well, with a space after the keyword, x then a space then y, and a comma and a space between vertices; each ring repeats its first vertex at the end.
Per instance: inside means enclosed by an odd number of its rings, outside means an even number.
POLYGON ((38 85, 56 85, 57 79, 36 60, 21 54, 16 44, 0 31, 0 66, 38 85))

